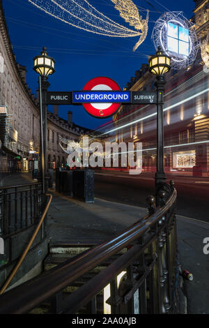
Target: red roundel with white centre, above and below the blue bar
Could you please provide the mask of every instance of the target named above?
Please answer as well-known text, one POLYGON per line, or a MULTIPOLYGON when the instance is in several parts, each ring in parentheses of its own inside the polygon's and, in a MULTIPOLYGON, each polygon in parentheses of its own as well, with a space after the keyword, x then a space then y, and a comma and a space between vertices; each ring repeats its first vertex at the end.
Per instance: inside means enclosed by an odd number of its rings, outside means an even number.
MULTIPOLYGON (((83 90, 119 91, 121 88, 109 77, 95 77, 86 83, 83 90)), ((112 116, 120 105, 120 103, 83 103, 88 114, 100 119, 112 116)))

